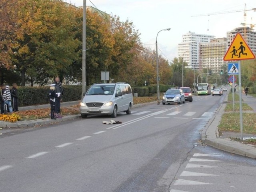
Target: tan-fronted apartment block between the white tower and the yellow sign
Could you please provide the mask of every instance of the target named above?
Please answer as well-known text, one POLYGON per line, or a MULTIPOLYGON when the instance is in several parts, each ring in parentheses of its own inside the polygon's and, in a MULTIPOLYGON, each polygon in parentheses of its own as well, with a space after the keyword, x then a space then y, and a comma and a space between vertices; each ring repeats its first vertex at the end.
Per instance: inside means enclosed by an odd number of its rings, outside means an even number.
POLYGON ((219 73, 226 64, 223 57, 227 50, 227 38, 211 39, 210 43, 200 43, 199 64, 212 73, 219 73))

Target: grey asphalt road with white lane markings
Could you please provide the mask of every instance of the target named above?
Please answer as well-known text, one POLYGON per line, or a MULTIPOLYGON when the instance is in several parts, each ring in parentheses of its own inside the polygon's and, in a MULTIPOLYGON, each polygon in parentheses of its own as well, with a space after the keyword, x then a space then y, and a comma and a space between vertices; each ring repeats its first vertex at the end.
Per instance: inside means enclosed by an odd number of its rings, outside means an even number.
POLYGON ((4 134, 0 191, 255 192, 255 160, 198 142, 223 99, 136 108, 117 125, 91 116, 4 134))

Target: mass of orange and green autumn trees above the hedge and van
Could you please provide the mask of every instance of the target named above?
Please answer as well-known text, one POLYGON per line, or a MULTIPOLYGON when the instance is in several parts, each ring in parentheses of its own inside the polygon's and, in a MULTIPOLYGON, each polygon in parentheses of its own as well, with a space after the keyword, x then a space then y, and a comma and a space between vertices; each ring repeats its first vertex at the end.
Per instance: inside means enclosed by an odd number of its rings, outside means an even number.
MULTIPOLYGON (((1 83, 44 85, 54 76, 82 80, 82 10, 61 0, 3 0, 0 3, 1 83), (12 78, 10 78, 10 76, 12 78)), ((155 52, 144 48, 132 22, 87 11, 87 83, 100 71, 132 85, 156 83, 155 52)), ((171 79, 169 62, 159 56, 160 83, 171 79)))

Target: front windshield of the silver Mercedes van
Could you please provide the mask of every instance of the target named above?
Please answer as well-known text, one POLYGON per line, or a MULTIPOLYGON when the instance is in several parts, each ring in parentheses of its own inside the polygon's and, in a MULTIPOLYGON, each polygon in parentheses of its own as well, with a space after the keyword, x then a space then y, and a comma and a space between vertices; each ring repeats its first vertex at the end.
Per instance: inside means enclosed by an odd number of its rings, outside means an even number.
POLYGON ((86 95, 113 95, 114 85, 93 85, 89 88, 86 95))

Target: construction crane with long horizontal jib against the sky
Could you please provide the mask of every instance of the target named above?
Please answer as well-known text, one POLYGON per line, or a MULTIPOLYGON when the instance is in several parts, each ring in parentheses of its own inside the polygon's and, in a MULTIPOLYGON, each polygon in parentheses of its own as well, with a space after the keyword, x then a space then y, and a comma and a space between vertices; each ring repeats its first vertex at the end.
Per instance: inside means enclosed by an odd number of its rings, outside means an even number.
POLYGON ((246 23, 246 17, 247 17, 246 12, 247 11, 256 11, 256 8, 246 9, 246 4, 244 4, 244 10, 232 10, 232 11, 213 12, 213 13, 207 13, 207 14, 193 15, 191 17, 201 17, 201 16, 210 16, 210 15, 219 15, 219 14, 229 14, 229 13, 236 13, 236 12, 244 12, 244 22, 241 23, 241 24, 242 24, 242 26, 244 26, 244 38, 246 39, 246 31, 247 31, 246 25, 250 25, 251 28, 253 28, 255 26, 254 24, 247 24, 246 23))

